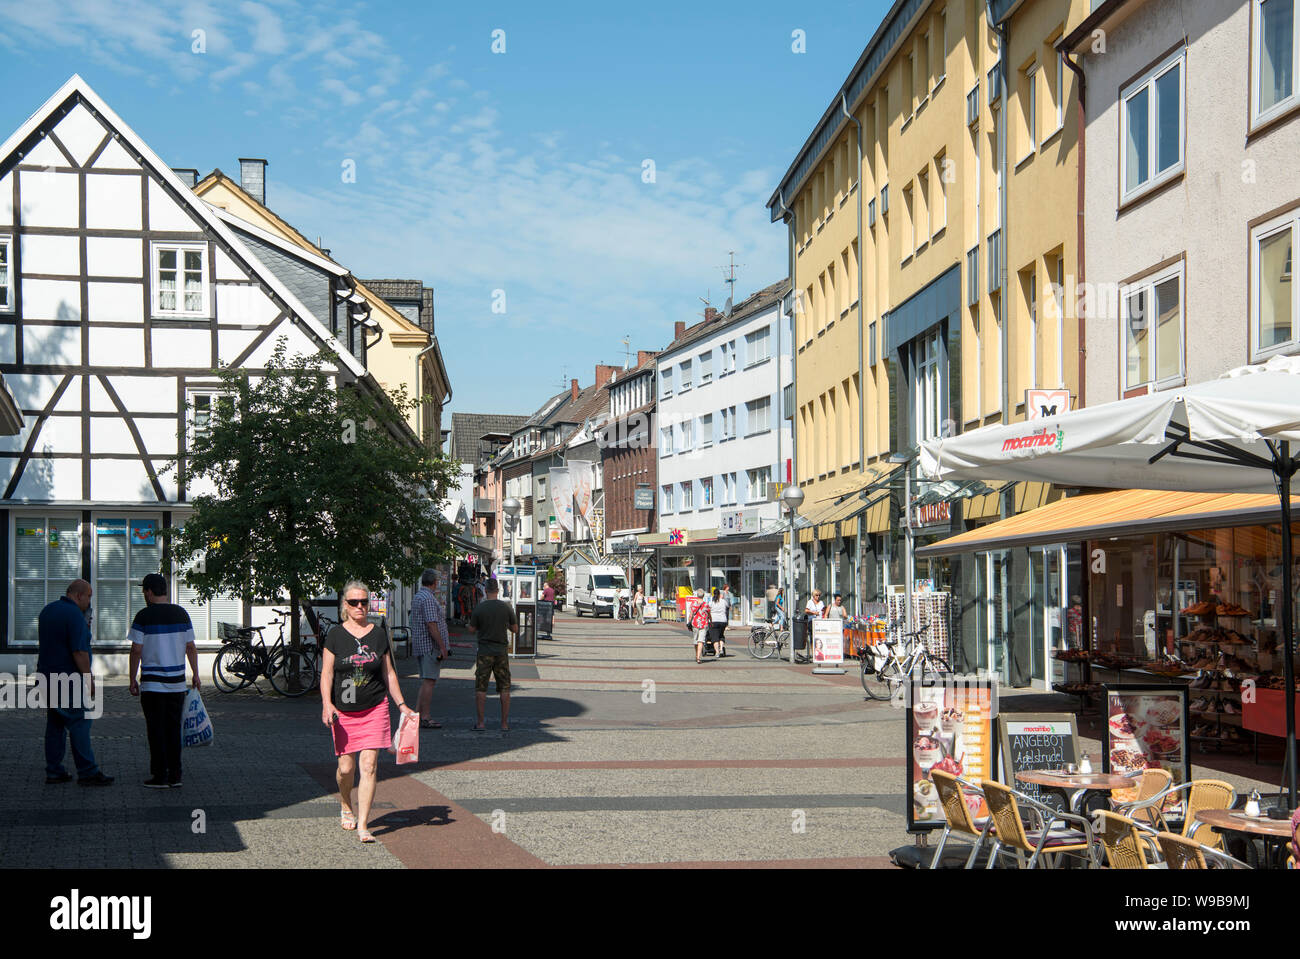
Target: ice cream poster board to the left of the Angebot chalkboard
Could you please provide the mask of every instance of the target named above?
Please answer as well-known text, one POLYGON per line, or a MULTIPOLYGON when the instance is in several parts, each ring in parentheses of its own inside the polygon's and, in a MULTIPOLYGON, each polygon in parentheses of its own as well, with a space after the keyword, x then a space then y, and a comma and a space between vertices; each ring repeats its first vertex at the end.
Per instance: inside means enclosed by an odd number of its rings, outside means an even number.
MULTIPOLYGON (((942 769, 967 780, 992 777, 997 769, 993 737, 993 684, 987 680, 923 686, 909 691, 907 832, 944 826, 939 793, 930 777, 942 769)), ((971 815, 988 815, 983 797, 968 797, 971 815)))

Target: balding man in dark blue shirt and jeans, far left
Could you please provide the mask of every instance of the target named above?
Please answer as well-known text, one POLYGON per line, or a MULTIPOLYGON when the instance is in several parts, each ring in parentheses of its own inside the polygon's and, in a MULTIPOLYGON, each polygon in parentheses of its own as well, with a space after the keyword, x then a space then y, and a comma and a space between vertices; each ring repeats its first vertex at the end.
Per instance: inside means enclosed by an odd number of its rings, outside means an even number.
POLYGON ((62 703, 55 699, 56 690, 68 690, 70 684, 61 677, 84 677, 90 694, 95 694, 95 677, 90 671, 90 626, 86 611, 90 608, 91 586, 84 580, 73 580, 66 595, 40 611, 36 619, 36 637, 40 652, 36 672, 46 677, 51 697, 46 710, 46 784, 68 782, 72 774, 64 769, 64 752, 72 739, 73 759, 77 763, 77 781, 83 786, 110 786, 113 777, 100 772, 95 764, 95 751, 90 745, 91 720, 84 703, 62 703))

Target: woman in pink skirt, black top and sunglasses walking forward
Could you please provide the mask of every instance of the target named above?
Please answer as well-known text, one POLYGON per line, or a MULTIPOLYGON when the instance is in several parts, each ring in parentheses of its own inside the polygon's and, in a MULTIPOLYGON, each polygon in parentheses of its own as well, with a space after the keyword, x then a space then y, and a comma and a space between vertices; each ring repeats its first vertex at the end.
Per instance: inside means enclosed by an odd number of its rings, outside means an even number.
POLYGON ((416 715, 402 697, 387 630, 367 621, 369 611, 370 590, 354 580, 343 589, 343 621, 325 637, 321 664, 321 720, 334 732, 341 819, 344 829, 358 830, 361 842, 374 842, 367 825, 378 781, 380 750, 393 745, 389 697, 403 716, 416 715), (354 811, 356 752, 361 754, 361 787, 354 811))

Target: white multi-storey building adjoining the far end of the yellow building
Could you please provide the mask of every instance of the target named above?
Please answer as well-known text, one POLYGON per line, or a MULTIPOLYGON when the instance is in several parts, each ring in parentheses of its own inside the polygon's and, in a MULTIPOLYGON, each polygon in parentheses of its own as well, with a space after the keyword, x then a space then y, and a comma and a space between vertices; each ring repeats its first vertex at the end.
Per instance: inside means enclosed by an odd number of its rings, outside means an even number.
POLYGON ((659 593, 731 583, 744 602, 733 619, 766 615, 776 583, 780 522, 776 492, 794 455, 781 395, 790 383, 786 281, 676 337, 655 366, 658 404, 659 593))

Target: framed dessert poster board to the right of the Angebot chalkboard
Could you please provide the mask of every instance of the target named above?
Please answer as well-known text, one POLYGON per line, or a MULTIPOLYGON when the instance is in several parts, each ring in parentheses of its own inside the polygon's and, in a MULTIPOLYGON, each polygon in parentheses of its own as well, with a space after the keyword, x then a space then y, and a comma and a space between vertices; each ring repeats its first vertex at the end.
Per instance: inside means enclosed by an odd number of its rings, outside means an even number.
MULTIPOLYGON (((1102 686, 1106 702, 1106 772, 1140 773, 1167 769, 1178 786, 1192 778, 1187 733, 1187 686, 1102 686)), ((1138 797, 1132 789, 1114 793, 1119 802, 1138 797)), ((1186 793, 1182 794, 1186 797, 1186 793)), ((1166 813, 1178 815, 1175 806, 1166 813)))

